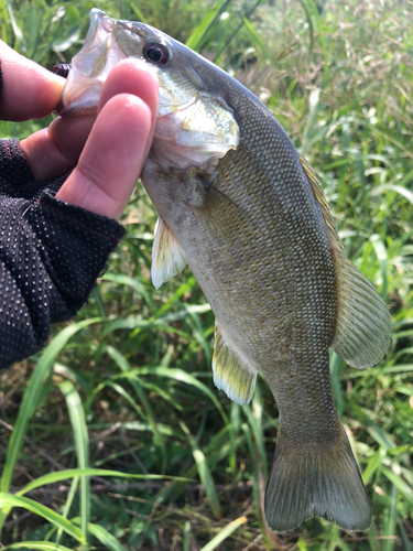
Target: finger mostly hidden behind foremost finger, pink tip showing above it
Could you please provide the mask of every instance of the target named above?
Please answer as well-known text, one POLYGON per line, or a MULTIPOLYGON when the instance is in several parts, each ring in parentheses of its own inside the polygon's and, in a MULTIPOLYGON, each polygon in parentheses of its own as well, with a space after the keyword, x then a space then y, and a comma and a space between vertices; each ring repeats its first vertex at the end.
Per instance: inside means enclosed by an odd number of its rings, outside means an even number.
MULTIPOLYGON (((99 110, 117 94, 133 94, 151 110, 151 131, 156 120, 157 78, 142 62, 124 60, 109 73, 99 101, 99 110)), ((40 130, 20 142, 36 180, 62 176, 78 160, 95 116, 58 117, 48 129, 40 130)), ((150 145, 149 145, 150 147, 150 145)), ((145 151, 148 154, 149 149, 145 151)))

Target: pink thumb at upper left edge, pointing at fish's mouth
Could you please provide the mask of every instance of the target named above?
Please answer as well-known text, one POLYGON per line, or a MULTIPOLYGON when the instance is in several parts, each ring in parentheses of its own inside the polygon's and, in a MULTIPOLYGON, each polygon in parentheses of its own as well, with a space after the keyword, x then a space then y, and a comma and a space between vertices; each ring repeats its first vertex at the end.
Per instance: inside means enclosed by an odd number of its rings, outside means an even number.
POLYGON ((65 79, 26 60, 0 41, 0 119, 30 120, 56 108, 65 79))

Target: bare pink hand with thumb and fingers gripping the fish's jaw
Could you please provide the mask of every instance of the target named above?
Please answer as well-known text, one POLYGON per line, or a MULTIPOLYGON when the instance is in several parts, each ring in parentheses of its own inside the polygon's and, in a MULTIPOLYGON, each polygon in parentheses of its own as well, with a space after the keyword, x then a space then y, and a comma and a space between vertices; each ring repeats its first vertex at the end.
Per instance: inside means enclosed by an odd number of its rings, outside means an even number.
MULTIPOLYGON (((64 78, 0 41, 0 118, 29 120, 57 106, 64 78)), ((118 219, 142 172, 157 108, 157 79, 137 60, 110 72, 96 116, 58 117, 20 142, 36 180, 65 175, 56 198, 118 219)))

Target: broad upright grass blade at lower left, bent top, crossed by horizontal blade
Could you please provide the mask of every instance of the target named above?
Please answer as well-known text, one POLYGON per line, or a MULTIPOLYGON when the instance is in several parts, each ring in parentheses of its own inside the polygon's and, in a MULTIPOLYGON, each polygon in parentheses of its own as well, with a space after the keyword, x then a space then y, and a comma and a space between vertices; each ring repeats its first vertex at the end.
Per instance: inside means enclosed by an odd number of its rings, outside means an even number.
MULTIPOLYGON (((73 437, 77 464, 79 468, 89 466, 89 436, 86 426, 85 411, 83 409, 79 393, 70 381, 64 381, 59 389, 66 398, 67 410, 70 418, 73 437)), ((90 518, 90 480, 88 476, 80 476, 80 528, 87 533, 87 526, 90 518)))

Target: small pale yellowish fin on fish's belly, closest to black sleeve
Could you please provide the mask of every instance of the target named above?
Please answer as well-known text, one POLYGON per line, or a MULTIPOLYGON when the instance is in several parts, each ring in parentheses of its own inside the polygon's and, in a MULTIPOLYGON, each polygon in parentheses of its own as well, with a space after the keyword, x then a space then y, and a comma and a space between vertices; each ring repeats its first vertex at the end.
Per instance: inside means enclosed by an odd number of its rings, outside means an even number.
POLYGON ((186 266, 186 257, 166 223, 159 217, 152 247, 151 277, 155 289, 174 278, 186 266))

